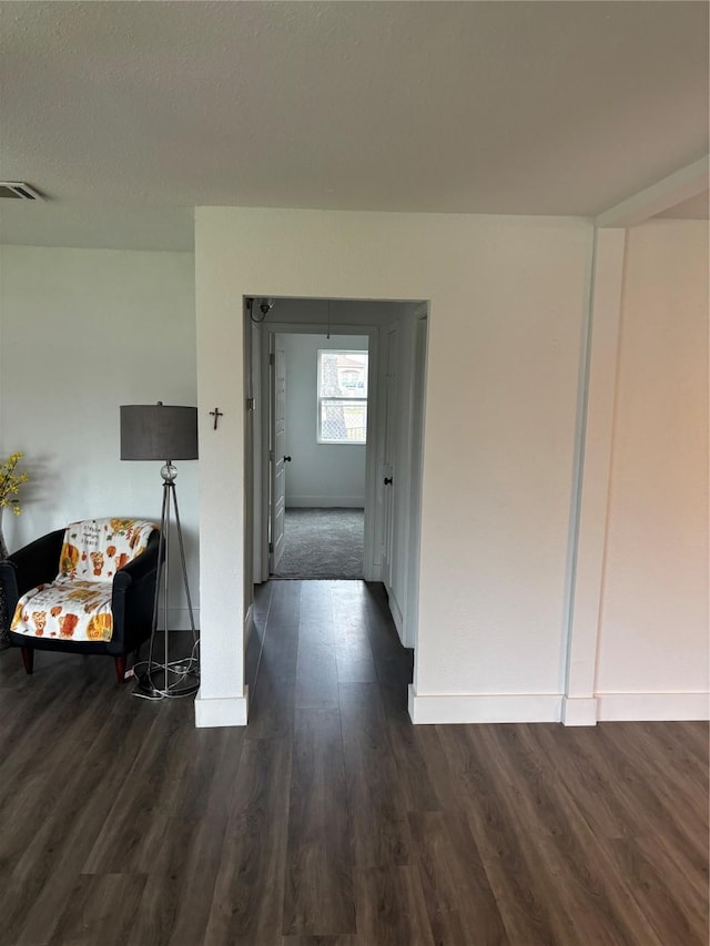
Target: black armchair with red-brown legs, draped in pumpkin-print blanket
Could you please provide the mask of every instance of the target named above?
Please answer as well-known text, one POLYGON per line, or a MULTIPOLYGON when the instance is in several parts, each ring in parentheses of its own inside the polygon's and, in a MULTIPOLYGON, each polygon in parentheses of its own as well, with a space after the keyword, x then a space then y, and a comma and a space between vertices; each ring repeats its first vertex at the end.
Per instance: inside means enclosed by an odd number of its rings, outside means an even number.
POLYGON ((28 673, 32 672, 36 650, 103 653, 113 657, 119 682, 123 681, 126 655, 150 637, 159 576, 158 528, 141 523, 145 528, 140 545, 136 539, 132 540, 132 546, 126 541, 126 537, 132 537, 132 525, 138 521, 93 519, 75 522, 0 561, 0 586, 11 620, 10 641, 21 649, 28 673), (95 551, 82 553, 87 546, 81 545, 81 533, 77 538, 77 527, 93 530, 90 536, 93 545, 89 548, 95 551), (121 553, 123 549, 128 549, 128 553, 121 553), (52 601, 48 596, 54 588, 64 597, 58 598, 57 606, 50 608, 52 601), (36 599, 40 603, 36 604, 30 598, 29 603, 18 609, 20 599, 31 590, 38 596, 41 593, 36 599), (101 597, 103 613, 90 620, 92 599, 101 597), (79 618, 69 611, 80 612, 79 618), (88 634, 81 633, 82 620, 84 624, 89 622, 88 634))

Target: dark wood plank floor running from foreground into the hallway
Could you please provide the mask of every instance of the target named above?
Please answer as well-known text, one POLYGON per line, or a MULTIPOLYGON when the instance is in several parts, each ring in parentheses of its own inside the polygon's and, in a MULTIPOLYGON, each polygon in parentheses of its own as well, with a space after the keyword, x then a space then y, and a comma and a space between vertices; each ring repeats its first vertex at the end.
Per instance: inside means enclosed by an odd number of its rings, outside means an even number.
POLYGON ((0 653, 0 944, 706 946, 707 725, 412 726, 385 614, 261 589, 244 730, 0 653))

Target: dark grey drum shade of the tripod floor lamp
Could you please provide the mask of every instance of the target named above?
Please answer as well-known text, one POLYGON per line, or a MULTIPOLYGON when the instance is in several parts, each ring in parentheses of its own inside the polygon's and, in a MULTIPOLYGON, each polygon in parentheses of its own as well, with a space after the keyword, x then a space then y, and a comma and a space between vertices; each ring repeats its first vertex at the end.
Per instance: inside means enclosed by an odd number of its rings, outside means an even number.
POLYGON ((196 460, 197 408, 121 405, 122 460, 196 460))

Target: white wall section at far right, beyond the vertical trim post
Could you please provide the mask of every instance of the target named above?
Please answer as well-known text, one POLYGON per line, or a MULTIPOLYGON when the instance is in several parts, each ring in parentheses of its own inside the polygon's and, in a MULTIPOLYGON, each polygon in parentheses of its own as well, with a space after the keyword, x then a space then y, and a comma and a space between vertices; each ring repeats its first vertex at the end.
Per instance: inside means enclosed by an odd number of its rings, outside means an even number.
POLYGON ((600 718, 707 715, 708 672, 708 227, 652 221, 627 234, 600 718))

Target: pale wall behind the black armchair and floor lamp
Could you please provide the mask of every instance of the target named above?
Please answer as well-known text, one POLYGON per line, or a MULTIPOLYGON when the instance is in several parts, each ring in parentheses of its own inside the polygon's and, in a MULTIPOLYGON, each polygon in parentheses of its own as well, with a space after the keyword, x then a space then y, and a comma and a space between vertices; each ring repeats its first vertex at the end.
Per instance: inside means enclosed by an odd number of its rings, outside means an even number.
MULTIPOLYGON (((0 449, 31 476, 10 550, 75 519, 159 521, 160 465, 121 462, 119 406, 196 403, 193 255, 4 245, 0 268, 0 449)), ((197 464, 178 494, 199 606, 197 464)))

